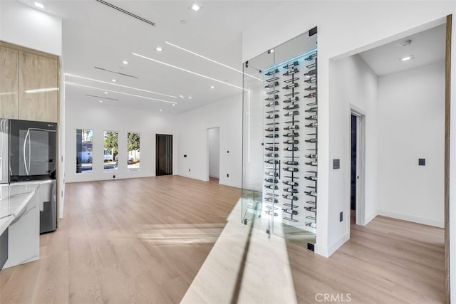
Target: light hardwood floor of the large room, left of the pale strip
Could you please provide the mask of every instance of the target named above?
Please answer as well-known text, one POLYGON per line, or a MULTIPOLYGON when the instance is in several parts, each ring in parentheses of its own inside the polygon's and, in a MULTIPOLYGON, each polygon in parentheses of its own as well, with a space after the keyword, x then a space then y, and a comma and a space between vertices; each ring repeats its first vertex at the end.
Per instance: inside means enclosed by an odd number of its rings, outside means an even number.
POLYGON ((61 226, 0 272, 0 303, 179 303, 239 197, 176 176, 67 184, 61 226))

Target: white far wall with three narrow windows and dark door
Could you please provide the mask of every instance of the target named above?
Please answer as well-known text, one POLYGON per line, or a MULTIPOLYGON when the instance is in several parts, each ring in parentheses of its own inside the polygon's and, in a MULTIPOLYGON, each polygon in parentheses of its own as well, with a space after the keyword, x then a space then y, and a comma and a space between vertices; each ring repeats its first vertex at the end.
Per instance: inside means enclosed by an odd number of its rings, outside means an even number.
POLYGON ((66 103, 66 182, 155 176, 155 135, 173 135, 173 172, 176 168, 175 116, 116 108, 108 103, 66 103), (76 173, 76 129, 93 130, 93 172, 76 173), (103 170, 103 132, 119 132, 118 170, 103 170), (140 133, 140 170, 128 171, 127 133, 140 133))

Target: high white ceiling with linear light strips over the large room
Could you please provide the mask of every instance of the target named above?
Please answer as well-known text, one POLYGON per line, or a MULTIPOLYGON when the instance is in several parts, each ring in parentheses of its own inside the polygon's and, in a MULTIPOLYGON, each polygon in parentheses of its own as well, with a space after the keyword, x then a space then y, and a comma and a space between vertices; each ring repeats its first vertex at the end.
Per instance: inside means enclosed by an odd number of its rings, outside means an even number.
POLYGON ((95 0, 43 3, 63 20, 66 102, 175 114, 242 92, 242 30, 274 7, 195 1, 196 12, 192 1, 108 1, 152 26, 95 0))

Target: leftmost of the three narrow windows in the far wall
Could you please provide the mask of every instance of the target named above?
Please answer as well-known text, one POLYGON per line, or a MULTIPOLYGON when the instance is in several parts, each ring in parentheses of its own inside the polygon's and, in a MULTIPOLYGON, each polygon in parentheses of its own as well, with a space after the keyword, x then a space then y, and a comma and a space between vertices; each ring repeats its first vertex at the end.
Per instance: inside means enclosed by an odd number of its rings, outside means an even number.
POLYGON ((92 172, 93 130, 76 129, 76 173, 92 172))

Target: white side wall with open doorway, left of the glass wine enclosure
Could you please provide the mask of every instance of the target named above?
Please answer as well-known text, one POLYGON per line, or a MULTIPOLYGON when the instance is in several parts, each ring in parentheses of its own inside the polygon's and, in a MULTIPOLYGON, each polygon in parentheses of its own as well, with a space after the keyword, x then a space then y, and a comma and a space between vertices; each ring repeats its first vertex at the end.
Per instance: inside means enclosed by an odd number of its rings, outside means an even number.
POLYGON ((239 93, 177 115, 177 122, 180 128, 177 142, 177 174, 207 181, 207 129, 220 127, 219 183, 241 187, 242 95, 239 93), (184 154, 187 157, 184 157, 184 154))

